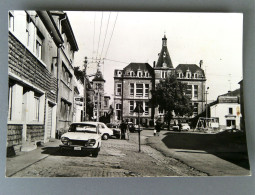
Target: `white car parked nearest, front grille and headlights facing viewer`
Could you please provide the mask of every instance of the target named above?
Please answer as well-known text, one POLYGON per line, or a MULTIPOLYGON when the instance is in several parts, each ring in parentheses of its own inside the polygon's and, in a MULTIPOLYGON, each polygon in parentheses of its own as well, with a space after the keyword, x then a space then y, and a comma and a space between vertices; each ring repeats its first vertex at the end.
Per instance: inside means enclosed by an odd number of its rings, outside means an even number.
POLYGON ((97 157, 101 148, 99 124, 86 122, 72 123, 67 133, 61 136, 60 152, 66 150, 90 152, 97 157))

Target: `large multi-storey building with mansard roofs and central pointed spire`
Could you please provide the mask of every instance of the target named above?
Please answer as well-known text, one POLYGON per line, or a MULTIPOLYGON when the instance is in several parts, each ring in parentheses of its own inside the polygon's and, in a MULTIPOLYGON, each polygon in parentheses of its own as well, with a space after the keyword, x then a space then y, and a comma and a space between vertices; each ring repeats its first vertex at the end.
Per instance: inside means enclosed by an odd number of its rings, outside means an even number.
POLYGON ((160 80, 170 74, 188 85, 187 94, 194 106, 193 116, 205 109, 205 73, 200 65, 179 64, 174 68, 168 48, 167 38, 162 38, 162 49, 153 66, 148 63, 130 63, 124 69, 114 70, 114 119, 138 123, 137 113, 133 110, 141 104, 144 112, 140 115, 140 124, 149 125, 150 120, 164 116, 164 111, 149 106, 150 91, 155 89, 160 80))

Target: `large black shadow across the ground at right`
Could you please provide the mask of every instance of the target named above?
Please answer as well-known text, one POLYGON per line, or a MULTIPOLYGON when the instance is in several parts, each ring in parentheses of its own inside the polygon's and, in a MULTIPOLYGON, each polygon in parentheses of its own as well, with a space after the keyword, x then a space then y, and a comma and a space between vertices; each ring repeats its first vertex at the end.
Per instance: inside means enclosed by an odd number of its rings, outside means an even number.
MULTIPOLYGON (((167 132, 162 141, 172 149, 202 150, 238 166, 250 169, 246 136, 243 133, 194 134, 167 132)), ((177 151, 201 153, 202 151, 177 151)), ((201 153, 203 154, 203 152, 201 153)))

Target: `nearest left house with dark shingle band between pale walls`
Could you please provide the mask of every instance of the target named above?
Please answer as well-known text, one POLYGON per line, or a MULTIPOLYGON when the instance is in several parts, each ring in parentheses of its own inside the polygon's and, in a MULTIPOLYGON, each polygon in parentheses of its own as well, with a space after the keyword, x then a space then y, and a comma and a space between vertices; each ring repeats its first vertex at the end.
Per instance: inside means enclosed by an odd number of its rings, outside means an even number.
POLYGON ((26 151, 55 136, 63 38, 48 11, 9 11, 8 19, 7 147, 26 151))

